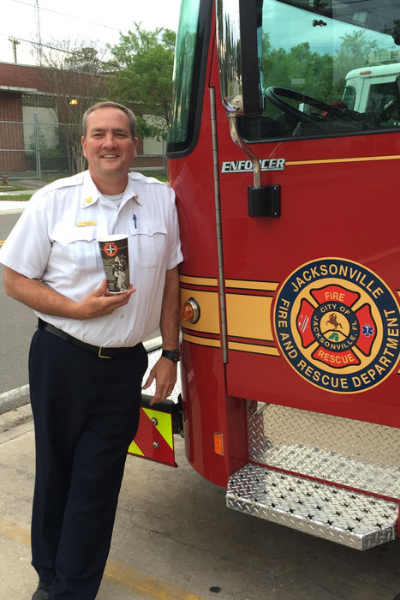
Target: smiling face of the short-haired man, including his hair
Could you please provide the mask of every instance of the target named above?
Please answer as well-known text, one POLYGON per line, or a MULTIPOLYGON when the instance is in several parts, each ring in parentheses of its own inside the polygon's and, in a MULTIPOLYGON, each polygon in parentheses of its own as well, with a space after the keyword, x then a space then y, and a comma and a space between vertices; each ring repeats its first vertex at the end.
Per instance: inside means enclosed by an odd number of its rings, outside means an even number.
POLYGON ((118 108, 98 108, 87 119, 82 137, 83 155, 94 178, 122 178, 136 156, 137 138, 132 138, 128 116, 118 108))

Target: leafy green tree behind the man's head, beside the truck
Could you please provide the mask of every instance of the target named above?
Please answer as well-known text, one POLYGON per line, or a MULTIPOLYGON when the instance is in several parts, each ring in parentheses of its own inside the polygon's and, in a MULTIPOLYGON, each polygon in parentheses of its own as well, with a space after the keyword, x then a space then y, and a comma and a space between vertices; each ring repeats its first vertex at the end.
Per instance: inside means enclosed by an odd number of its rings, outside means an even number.
POLYGON ((108 82, 109 94, 134 109, 142 137, 166 138, 175 38, 170 29, 146 31, 140 23, 135 23, 134 31, 120 33, 119 44, 109 48, 113 55, 109 64, 113 72, 108 82), (151 121, 146 122, 144 115, 151 116, 151 121))

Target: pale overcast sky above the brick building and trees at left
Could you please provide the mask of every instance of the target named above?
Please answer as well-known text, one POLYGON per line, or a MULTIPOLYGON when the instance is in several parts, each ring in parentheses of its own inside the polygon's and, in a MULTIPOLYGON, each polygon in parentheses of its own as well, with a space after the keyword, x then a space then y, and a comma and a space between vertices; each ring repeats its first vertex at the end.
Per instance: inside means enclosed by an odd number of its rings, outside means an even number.
POLYGON ((59 40, 92 42, 97 48, 117 44, 119 32, 165 27, 177 30, 180 0, 0 0, 0 62, 14 62, 9 38, 17 38, 17 62, 35 64, 40 32, 42 44, 59 40), (39 6, 39 11, 37 10, 39 6))

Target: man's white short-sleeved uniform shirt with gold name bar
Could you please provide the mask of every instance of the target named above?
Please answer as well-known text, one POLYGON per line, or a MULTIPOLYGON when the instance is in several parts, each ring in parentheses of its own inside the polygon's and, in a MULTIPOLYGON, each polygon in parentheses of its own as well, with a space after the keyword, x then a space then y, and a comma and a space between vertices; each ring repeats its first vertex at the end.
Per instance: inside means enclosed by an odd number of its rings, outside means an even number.
POLYGON ((97 238, 117 233, 129 236, 136 288, 126 306, 83 321, 35 313, 89 344, 134 346, 159 327, 165 272, 182 261, 175 194, 167 185, 130 173, 117 207, 102 197, 88 171, 51 183, 32 196, 0 262, 80 301, 105 278, 97 238))

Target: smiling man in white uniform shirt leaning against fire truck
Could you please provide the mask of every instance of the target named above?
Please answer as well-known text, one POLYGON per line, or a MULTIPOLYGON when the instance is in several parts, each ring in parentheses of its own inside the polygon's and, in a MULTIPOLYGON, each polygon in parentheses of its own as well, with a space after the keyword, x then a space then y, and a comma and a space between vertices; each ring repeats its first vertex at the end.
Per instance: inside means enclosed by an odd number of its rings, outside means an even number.
POLYGON ((163 353, 144 387, 164 400, 179 360, 174 193, 129 173, 135 117, 111 102, 83 119, 88 171, 38 191, 4 244, 6 292, 39 317, 29 380, 36 480, 32 600, 92 600, 108 556, 128 446, 135 436, 142 340, 158 327, 163 353), (128 234, 130 280, 109 294, 97 237, 128 234))

